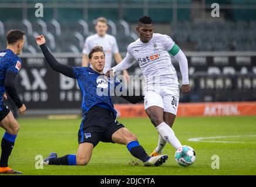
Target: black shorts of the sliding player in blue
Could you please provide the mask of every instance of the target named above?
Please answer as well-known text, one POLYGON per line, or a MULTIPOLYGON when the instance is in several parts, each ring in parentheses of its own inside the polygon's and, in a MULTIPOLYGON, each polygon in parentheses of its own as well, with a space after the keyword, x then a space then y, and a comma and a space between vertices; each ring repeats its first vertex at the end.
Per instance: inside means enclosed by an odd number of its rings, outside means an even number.
POLYGON ((99 141, 111 142, 115 131, 123 128, 123 124, 117 122, 112 112, 99 106, 93 106, 85 116, 83 116, 80 129, 78 131, 78 143, 92 143, 97 146, 99 141))

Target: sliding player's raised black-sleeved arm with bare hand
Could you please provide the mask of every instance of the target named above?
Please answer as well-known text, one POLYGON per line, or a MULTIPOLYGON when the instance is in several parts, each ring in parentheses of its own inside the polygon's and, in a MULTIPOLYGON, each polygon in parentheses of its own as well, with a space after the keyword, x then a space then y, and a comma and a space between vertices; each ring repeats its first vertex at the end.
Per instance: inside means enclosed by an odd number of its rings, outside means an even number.
POLYGON ((36 37, 36 43, 41 47, 43 56, 45 56, 46 61, 52 68, 52 70, 58 71, 63 75, 73 78, 73 68, 69 65, 60 64, 55 57, 50 53, 48 47, 46 46, 46 40, 43 35, 36 37))

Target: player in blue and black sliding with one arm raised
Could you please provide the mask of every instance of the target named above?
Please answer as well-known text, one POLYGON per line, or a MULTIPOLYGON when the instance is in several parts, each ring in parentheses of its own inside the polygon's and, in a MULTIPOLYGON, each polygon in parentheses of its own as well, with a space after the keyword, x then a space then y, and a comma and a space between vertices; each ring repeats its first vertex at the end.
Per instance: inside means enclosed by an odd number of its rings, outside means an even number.
MULTIPOLYGON (((46 61, 53 70, 70 78, 78 80, 82 93, 83 119, 78 132, 78 153, 57 157, 56 153, 50 153, 43 161, 45 165, 86 165, 92 157, 93 148, 99 141, 106 143, 125 144, 130 153, 141 160, 145 166, 159 166, 166 162, 167 155, 150 157, 144 148, 140 146, 137 137, 116 120, 112 98, 109 94, 111 81, 105 80, 103 68, 105 65, 105 53, 100 46, 94 47, 89 53, 89 67, 70 67, 56 61, 46 46, 43 35, 36 37, 36 43, 41 47, 46 61), (106 94, 100 91, 107 90, 106 94)), ((115 79, 114 88, 120 84, 115 79)), ((122 86, 121 86, 122 87, 122 86)), ((143 100, 143 96, 122 96, 129 102, 137 103, 143 100)))

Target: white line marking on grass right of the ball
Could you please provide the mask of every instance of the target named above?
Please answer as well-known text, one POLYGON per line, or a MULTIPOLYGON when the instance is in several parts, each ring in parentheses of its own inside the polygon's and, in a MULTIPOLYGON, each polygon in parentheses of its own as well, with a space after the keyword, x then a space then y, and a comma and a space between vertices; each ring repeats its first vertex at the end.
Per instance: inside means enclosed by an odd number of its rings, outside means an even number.
POLYGON ((248 135, 236 135, 236 136, 214 136, 214 137, 198 137, 198 138, 189 138, 188 141, 197 141, 197 142, 211 142, 211 143, 236 143, 236 144, 256 144, 256 142, 245 142, 245 141, 215 141, 209 139, 217 139, 217 138, 241 138, 241 137, 255 137, 256 134, 248 134, 248 135))

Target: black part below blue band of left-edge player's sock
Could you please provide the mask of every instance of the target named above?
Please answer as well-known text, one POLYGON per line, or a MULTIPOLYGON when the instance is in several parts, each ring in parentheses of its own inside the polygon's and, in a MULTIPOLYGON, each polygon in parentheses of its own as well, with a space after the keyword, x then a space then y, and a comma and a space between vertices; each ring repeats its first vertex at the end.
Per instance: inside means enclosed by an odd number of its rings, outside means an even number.
POLYGON ((11 142, 9 140, 6 140, 5 138, 2 138, 2 143, 1 143, 2 154, 1 154, 1 160, 0 160, 0 167, 8 167, 8 159, 12 153, 13 147, 14 147, 14 142, 11 142))

